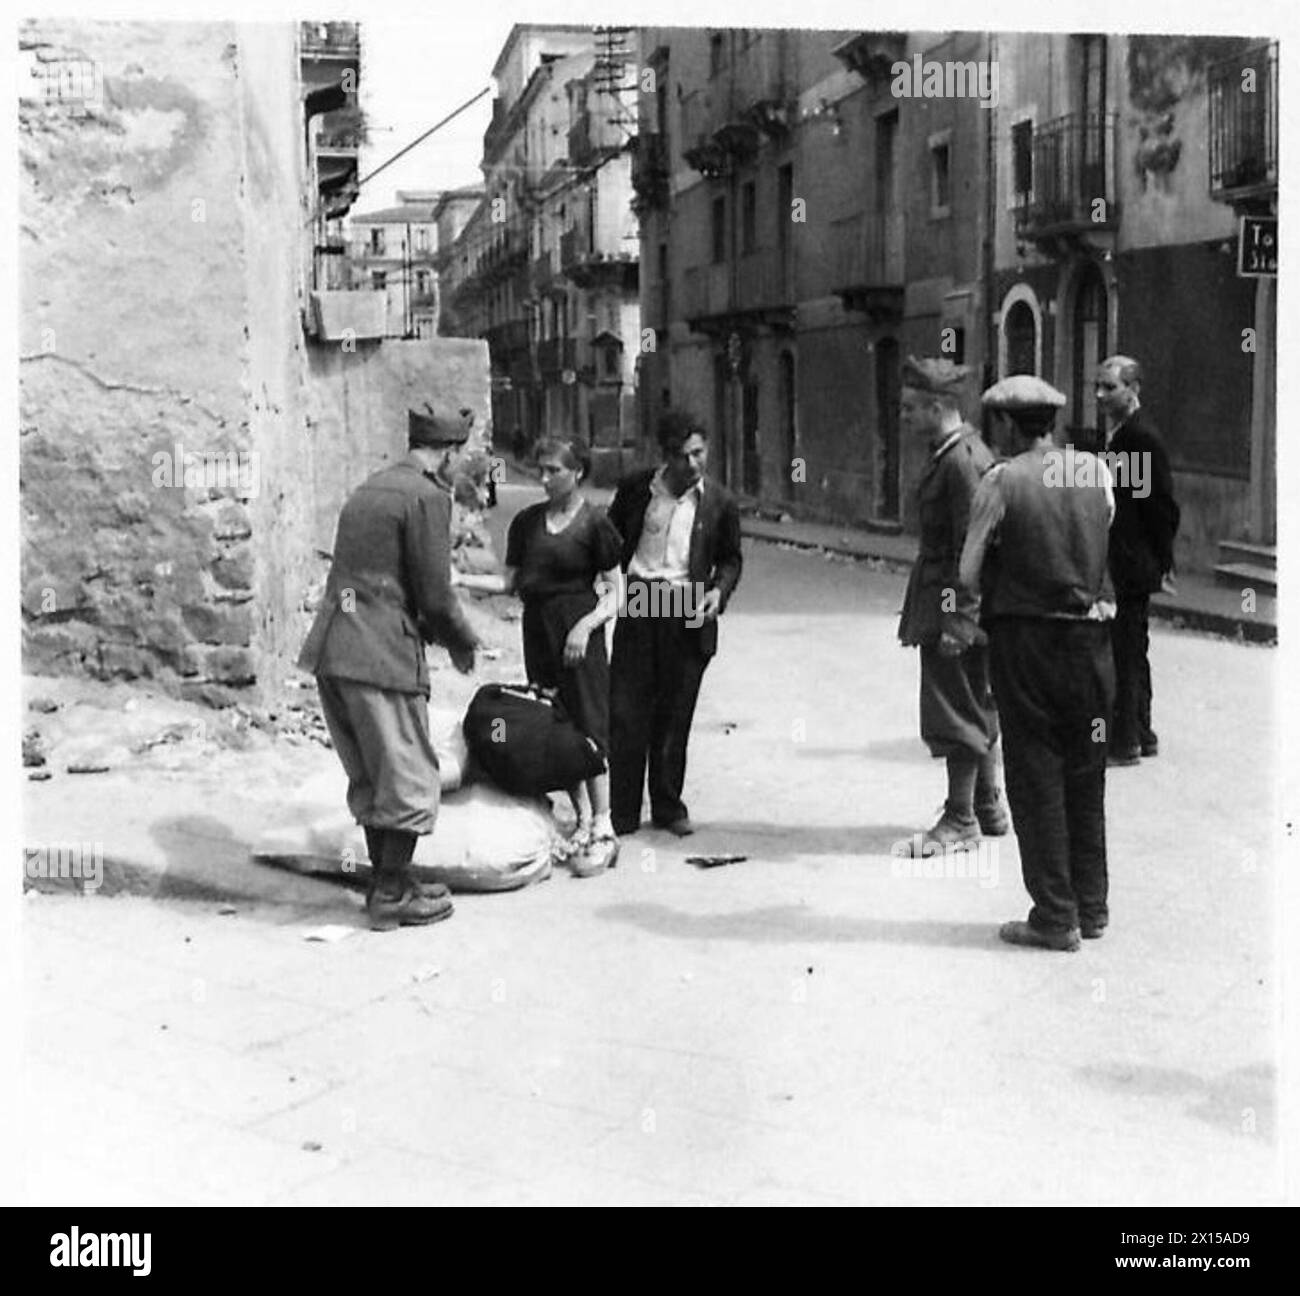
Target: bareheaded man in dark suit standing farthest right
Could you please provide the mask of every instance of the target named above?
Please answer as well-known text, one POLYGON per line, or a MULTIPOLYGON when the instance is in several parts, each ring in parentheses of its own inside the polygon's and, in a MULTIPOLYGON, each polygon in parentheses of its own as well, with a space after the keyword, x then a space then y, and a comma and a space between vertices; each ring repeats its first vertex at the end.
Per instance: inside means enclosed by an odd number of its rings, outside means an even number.
POLYGON ((1115 619, 1115 714, 1110 764, 1138 764, 1160 741, 1150 727, 1148 615, 1150 595, 1174 569, 1179 510, 1165 443, 1140 413, 1141 369, 1113 355, 1097 370, 1097 403, 1110 425, 1106 461, 1115 478, 1115 520, 1110 528, 1110 578, 1115 619))

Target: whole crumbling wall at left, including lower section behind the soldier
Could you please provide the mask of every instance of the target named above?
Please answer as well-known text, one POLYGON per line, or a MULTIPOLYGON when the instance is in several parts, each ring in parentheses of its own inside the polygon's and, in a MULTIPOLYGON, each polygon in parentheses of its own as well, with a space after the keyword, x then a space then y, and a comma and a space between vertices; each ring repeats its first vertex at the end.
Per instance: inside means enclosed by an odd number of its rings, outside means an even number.
POLYGON ((292 23, 39 19, 20 44, 25 669, 270 701, 407 407, 486 430, 486 343, 304 338, 292 23), (95 95, 47 101, 61 68, 95 95))

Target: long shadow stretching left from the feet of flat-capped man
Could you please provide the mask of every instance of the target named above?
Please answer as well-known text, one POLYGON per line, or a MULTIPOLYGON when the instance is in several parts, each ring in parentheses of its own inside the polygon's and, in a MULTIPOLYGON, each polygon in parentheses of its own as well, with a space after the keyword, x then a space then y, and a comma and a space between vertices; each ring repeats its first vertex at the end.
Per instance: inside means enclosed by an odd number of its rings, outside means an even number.
POLYGON ((731 940, 750 945, 879 944, 941 945, 946 949, 1006 949, 993 923, 928 919, 844 918, 810 913, 803 905, 754 909, 741 914, 686 914, 667 905, 610 905, 598 918, 628 923, 653 936, 677 940, 731 940))

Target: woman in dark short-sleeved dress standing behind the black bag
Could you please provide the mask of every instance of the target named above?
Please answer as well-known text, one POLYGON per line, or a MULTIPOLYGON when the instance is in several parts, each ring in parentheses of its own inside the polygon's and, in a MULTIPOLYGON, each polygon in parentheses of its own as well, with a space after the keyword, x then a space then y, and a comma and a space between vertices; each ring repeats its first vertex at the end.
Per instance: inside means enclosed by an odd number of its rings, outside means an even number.
MULTIPOLYGON (((619 614, 623 541, 578 485, 592 458, 580 441, 541 442, 537 467, 546 499, 516 515, 500 576, 459 577, 469 589, 519 594, 524 601, 524 668, 533 684, 554 688, 569 719, 610 750, 610 659, 604 627, 619 614)), ((606 768, 569 789, 577 814, 573 872, 603 872, 618 859, 606 768)))

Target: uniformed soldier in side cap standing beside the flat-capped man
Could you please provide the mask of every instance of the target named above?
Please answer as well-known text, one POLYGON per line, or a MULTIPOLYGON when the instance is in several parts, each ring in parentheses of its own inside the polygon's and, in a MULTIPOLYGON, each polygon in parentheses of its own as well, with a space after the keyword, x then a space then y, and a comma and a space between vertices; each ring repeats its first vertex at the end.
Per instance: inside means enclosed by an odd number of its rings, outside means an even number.
POLYGON ((948 796, 920 849, 961 848, 982 832, 1009 828, 998 790, 997 711, 988 681, 983 636, 958 642, 963 611, 957 559, 966 538, 971 499, 993 454, 962 420, 961 387, 970 369, 948 359, 904 364, 904 430, 924 437, 930 455, 916 486, 920 549, 907 581, 898 638, 920 649, 920 737, 948 764, 948 796))

